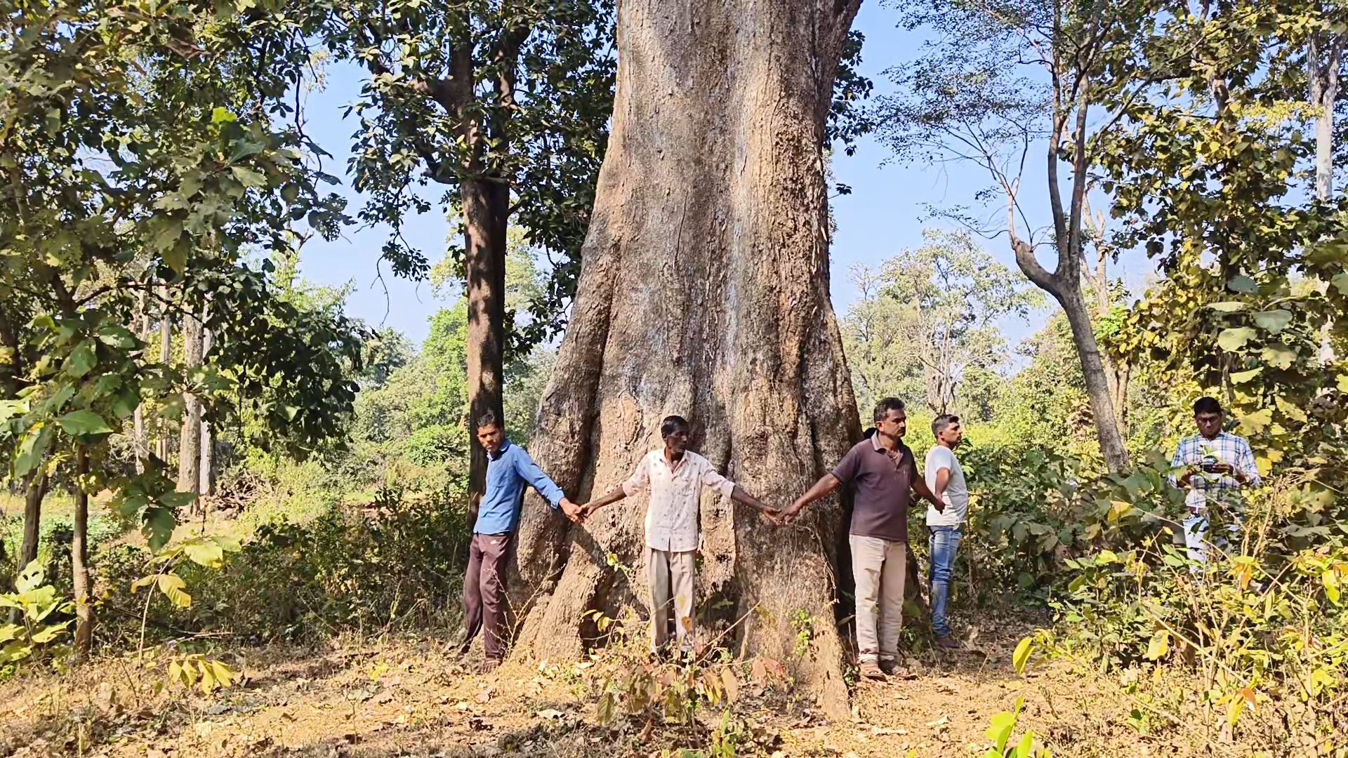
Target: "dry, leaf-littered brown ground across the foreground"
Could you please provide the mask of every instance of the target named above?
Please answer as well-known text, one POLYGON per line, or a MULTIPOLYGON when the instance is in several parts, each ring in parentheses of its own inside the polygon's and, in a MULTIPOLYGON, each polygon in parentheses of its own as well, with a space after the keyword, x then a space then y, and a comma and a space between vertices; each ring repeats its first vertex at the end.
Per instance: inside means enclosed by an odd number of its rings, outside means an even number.
POLYGON ((969 650, 913 658, 917 678, 860 682, 847 723, 828 723, 807 700, 741 691, 731 718, 705 708, 693 727, 654 731, 640 720, 599 726, 584 664, 479 674, 441 639, 240 649, 221 655, 240 681, 212 695, 163 684, 163 664, 104 658, 0 687, 0 755, 969 757, 987 750, 989 719, 1018 697, 1016 739, 1033 728, 1058 755, 1204 753, 1175 730, 1148 736, 1127 726, 1132 705, 1108 680, 1060 664, 1018 676, 1011 651, 1029 629, 1010 622, 969 650), (713 753, 725 724, 740 743, 713 753))

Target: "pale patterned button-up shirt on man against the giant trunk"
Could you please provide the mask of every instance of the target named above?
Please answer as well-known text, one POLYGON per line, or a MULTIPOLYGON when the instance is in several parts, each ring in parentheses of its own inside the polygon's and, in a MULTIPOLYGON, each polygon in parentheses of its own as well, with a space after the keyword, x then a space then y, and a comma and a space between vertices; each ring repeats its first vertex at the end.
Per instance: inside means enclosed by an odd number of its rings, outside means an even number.
POLYGON ((683 460, 671 469, 663 449, 646 453, 632 476, 623 483, 623 494, 631 498, 647 486, 651 502, 646 507, 646 545, 671 553, 698 548, 697 502, 702 487, 710 487, 723 496, 735 490, 735 483, 717 473, 712 461, 693 452, 685 452, 683 460))

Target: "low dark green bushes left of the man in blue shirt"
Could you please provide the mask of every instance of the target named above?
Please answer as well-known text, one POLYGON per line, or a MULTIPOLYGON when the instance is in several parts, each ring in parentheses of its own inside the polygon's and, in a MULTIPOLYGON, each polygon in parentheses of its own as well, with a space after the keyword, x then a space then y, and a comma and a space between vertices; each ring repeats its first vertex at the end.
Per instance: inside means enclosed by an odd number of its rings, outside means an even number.
POLYGON ((208 630, 266 642, 445 626, 457 620, 466 542, 462 499, 384 490, 368 507, 330 504, 307 522, 263 523, 220 569, 183 564, 186 610, 132 595, 151 554, 120 546, 94 564, 104 618, 116 626, 102 637, 133 645, 147 602, 151 641, 208 630))

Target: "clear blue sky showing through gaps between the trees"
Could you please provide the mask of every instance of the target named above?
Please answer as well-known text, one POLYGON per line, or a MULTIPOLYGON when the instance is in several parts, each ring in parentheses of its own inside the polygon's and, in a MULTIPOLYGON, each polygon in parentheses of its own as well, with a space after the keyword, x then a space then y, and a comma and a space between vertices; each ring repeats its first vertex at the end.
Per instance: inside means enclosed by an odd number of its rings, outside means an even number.
MULTIPOLYGON (((911 61, 921 51, 921 32, 896 28, 896 23, 898 15, 894 9, 868 0, 853 24, 865 34, 863 73, 875 81, 876 93, 890 89, 883 76, 884 69, 911 61)), ((325 86, 307 96, 306 131, 332 152, 333 158, 325 165, 328 171, 346 181, 345 165, 356 124, 353 117, 344 120, 341 112, 346 104, 357 100, 361 74, 355 66, 333 65, 325 78, 325 86)), ((883 146, 867 139, 860 143, 855 155, 847 156, 838 151, 833 161, 836 179, 852 186, 852 194, 833 201, 838 229, 832 248, 832 293, 834 309, 840 314, 845 313, 859 297, 849 276, 853 264, 879 264, 903 247, 922 244, 925 225, 950 225, 942 220, 923 221, 926 204, 973 205, 975 193, 987 186, 985 174, 977 166, 886 165, 887 156, 888 152, 883 146)), ((1033 158, 1027 181, 1033 181, 1035 175, 1041 178, 1038 185, 1031 183, 1027 187, 1026 205, 1031 218, 1042 224, 1046 220, 1042 159, 1037 165, 1033 158)), ((344 187, 344 192, 350 197, 352 209, 357 208, 359 197, 349 187, 344 187)), ((438 198, 438 196, 437 187, 427 190, 427 197, 438 198)), ((995 213, 995 209, 989 209, 989 213, 995 213)), ((408 227, 407 237, 434 260, 443 250, 448 231, 449 224, 445 218, 433 212, 418 217, 408 227)), ((302 251, 302 272, 305 278, 317 283, 334 286, 349 283, 352 291, 346 306, 352 316, 371 324, 394 326, 419 343, 427 333, 427 318, 449 303, 435 299, 427 283, 396 279, 387 267, 380 276, 379 251, 386 239, 384 228, 349 229, 342 239, 333 243, 314 239, 302 251)), ((1015 268, 1004 236, 987 240, 985 248, 1015 268)), ((1134 262, 1131 268, 1127 281, 1132 287, 1138 287, 1148 267, 1143 262, 1134 262)), ((1019 276, 1019 272, 1016 275, 1019 276)), ((1030 324, 1008 321, 1003 324, 1003 329, 1012 341, 1019 340, 1042 325, 1049 313, 1045 310, 1034 314, 1030 324)))

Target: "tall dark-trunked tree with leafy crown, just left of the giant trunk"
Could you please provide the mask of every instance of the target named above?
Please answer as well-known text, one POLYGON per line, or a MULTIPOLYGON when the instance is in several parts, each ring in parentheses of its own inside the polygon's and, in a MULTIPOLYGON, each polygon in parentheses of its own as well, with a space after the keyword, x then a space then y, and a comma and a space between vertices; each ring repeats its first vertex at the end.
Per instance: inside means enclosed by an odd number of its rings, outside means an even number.
MULTIPOLYGON (((555 333, 574 291, 580 247, 608 136, 613 61, 611 0, 421 3, 359 0, 333 5, 329 39, 371 78, 360 116, 355 186, 361 217, 392 227, 384 258, 423 278, 422 251, 403 243, 410 213, 445 187, 442 213, 457 223, 449 258, 468 297, 469 417, 501 418, 503 366, 511 341, 555 333), (507 229, 557 256, 553 281, 515 329, 506 306, 507 229)), ((470 510, 487 453, 472 440, 470 510)))

